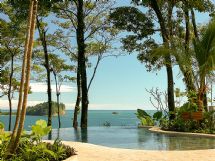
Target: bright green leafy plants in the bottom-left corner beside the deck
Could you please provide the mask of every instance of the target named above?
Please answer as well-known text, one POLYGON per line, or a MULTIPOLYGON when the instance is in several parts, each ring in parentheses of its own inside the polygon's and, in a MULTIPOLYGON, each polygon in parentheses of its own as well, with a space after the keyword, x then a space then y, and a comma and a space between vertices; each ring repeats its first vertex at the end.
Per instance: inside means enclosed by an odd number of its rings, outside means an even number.
POLYGON ((47 127, 46 121, 38 120, 32 126, 31 134, 22 134, 16 154, 10 159, 5 159, 6 148, 10 140, 10 133, 0 133, 0 160, 2 161, 60 161, 75 155, 73 148, 62 144, 60 140, 54 143, 41 142, 43 136, 47 135, 51 127, 47 127), (36 141, 36 142, 35 142, 36 141))

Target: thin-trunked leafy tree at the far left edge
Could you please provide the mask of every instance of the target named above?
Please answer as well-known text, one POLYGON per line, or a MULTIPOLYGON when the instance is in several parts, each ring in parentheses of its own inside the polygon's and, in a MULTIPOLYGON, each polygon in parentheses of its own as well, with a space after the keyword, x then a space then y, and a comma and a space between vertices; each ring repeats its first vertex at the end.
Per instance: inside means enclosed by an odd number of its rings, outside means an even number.
POLYGON ((12 115, 12 98, 13 93, 18 90, 19 82, 15 77, 18 71, 15 59, 18 60, 20 53, 23 50, 24 34, 23 29, 25 29, 23 22, 16 19, 16 17, 11 14, 13 8, 2 4, 1 11, 4 15, 8 16, 9 20, 0 19, 1 26, 1 53, 2 53, 2 77, 1 79, 1 89, 5 95, 8 97, 9 102, 9 127, 11 130, 11 115, 12 115), (4 56, 3 56, 4 55, 4 56))

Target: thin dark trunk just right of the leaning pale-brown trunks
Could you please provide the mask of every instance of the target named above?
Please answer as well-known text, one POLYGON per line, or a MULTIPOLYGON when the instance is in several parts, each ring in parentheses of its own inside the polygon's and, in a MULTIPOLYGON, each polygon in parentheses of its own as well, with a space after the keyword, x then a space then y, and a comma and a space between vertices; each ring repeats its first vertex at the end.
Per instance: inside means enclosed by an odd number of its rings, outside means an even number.
POLYGON ((39 19, 37 17, 37 28, 40 35, 40 40, 42 42, 43 46, 43 52, 44 52, 44 58, 45 58, 45 68, 46 68, 46 75, 47 75, 47 93, 48 93, 48 126, 52 125, 52 91, 51 91, 51 71, 50 71, 50 65, 49 65, 49 55, 48 55, 48 49, 47 49, 47 43, 46 43, 46 31, 44 28, 40 25, 39 19))

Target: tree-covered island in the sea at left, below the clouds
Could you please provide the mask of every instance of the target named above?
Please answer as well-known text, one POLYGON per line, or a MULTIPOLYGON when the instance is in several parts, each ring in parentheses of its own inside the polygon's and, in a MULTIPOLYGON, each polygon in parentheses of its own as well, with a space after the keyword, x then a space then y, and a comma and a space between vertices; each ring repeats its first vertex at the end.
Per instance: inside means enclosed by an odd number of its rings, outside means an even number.
MULTIPOLYGON (((59 110, 61 115, 65 113, 65 105, 63 103, 60 103, 59 110)), ((57 102, 52 102, 52 115, 57 115, 57 112, 58 112, 57 102)), ((26 114, 36 116, 48 115, 48 102, 27 107, 26 114)))

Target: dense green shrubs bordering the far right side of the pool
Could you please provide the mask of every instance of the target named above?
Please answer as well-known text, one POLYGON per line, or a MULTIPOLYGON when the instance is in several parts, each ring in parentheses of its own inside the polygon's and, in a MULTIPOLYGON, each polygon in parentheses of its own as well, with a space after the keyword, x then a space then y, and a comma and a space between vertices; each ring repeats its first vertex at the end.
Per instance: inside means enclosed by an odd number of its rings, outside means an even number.
POLYGON ((182 114, 188 112, 192 114, 198 111, 197 93, 189 91, 187 93, 188 102, 184 103, 175 111, 175 119, 161 119, 160 126, 164 130, 185 131, 185 132, 201 132, 201 133, 215 133, 215 115, 214 112, 204 112, 203 120, 183 120, 182 114))

